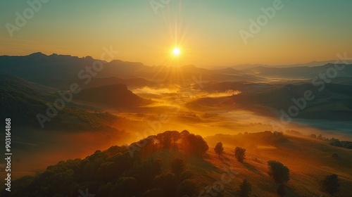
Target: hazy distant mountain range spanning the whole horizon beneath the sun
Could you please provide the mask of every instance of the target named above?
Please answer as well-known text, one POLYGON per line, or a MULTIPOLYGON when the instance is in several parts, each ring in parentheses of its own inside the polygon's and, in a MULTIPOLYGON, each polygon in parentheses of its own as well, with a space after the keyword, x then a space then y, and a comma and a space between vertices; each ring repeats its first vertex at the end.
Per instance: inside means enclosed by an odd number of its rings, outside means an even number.
MULTIPOLYGON (((142 87, 143 83, 146 83, 146 86, 155 87, 155 82, 169 82, 171 84, 190 84, 199 81, 266 82, 269 77, 311 80, 334 67, 333 63, 320 66, 282 66, 281 68, 268 65, 244 65, 241 66, 241 69, 215 68, 209 70, 195 65, 148 66, 138 62, 114 60, 111 62, 99 61, 103 68, 99 71, 93 70, 94 75, 89 74, 87 68, 92 68, 96 61, 90 56, 84 58, 58 54, 46 56, 43 53, 32 53, 28 56, 0 56, 0 73, 17 75, 26 80, 63 89, 67 89, 72 82, 80 82, 81 84, 86 82, 82 88, 87 89, 117 83, 126 84, 127 87, 142 87), (92 82, 89 80, 88 83, 89 77, 93 80, 92 82), (94 80, 97 78, 99 80, 94 80), (103 78, 106 79, 102 80, 103 78)), ((339 71, 337 77, 352 77, 352 65, 346 65, 344 70, 339 71)))

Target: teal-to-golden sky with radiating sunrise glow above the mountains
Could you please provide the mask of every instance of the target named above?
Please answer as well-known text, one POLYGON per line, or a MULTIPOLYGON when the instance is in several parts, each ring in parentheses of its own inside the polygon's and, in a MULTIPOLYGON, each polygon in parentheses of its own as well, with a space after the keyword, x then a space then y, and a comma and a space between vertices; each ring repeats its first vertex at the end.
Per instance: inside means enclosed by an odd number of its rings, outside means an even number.
POLYGON ((112 47, 115 59, 146 65, 328 61, 352 57, 351 8, 350 0, 5 0, 0 55, 99 59, 112 47))

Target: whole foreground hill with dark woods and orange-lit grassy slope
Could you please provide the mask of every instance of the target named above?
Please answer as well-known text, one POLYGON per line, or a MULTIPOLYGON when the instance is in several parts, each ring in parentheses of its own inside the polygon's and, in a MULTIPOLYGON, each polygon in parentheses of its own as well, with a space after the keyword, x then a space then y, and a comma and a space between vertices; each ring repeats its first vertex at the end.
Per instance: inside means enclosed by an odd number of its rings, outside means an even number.
POLYGON ((35 177, 14 181, 11 196, 79 196, 80 191, 89 191, 96 197, 193 197, 210 193, 238 196, 239 184, 247 179, 252 185, 251 196, 269 197, 276 195, 279 185, 268 175, 269 160, 278 160, 289 167, 290 179, 284 183, 287 196, 329 196, 321 184, 329 174, 338 175, 339 196, 350 195, 352 151, 349 149, 308 138, 258 132, 208 136, 206 141, 211 148, 206 148, 208 151, 203 156, 197 156, 190 152, 195 150, 191 147, 201 141, 187 145, 195 139, 203 140, 187 131, 168 131, 130 146, 96 151, 84 159, 61 161, 35 177), (166 139, 173 141, 171 146, 166 146, 166 139), (225 147, 220 156, 213 151, 218 141, 225 147), (236 146, 247 148, 244 163, 234 158, 236 146), (338 157, 332 157, 333 153, 338 157), (175 160, 184 163, 181 168, 172 167, 180 166, 175 160))

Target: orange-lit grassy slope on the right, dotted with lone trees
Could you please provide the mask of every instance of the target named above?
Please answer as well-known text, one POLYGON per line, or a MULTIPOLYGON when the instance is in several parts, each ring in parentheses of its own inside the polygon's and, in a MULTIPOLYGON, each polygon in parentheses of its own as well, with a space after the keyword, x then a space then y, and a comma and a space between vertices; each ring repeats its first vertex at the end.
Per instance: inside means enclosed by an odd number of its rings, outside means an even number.
MULTIPOLYGON (((168 168, 167 161, 180 157, 187 163, 187 168, 197 172, 196 178, 202 188, 212 186, 220 181, 226 169, 232 167, 238 174, 232 177, 230 183, 225 183, 225 196, 233 196, 239 190, 243 179, 252 184, 252 194, 260 197, 277 196, 279 184, 268 176, 268 160, 278 160, 287 165, 291 180, 285 184, 287 196, 329 196, 322 191, 320 181, 329 174, 338 174, 341 184, 339 196, 351 196, 352 191, 352 150, 329 146, 313 139, 288 136, 289 141, 278 146, 246 147, 246 160, 239 163, 234 158, 236 144, 224 144, 225 152, 218 158, 213 151, 217 139, 212 136, 206 139, 210 146, 204 160, 176 151, 161 150, 153 154, 153 158, 162 158, 168 168), (332 158, 332 153, 339 155, 332 158)), ((167 169, 165 169, 167 170, 167 169)), ((226 175, 226 179, 229 176, 226 175)))

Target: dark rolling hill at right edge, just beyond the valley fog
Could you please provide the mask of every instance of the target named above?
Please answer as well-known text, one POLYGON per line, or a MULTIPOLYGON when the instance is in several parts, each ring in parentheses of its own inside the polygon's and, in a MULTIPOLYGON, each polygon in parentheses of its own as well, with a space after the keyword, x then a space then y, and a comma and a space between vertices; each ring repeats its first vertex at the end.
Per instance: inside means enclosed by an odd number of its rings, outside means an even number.
POLYGON ((352 87, 345 84, 325 84, 320 91, 310 83, 296 84, 251 84, 223 82, 208 84, 203 90, 223 91, 234 89, 244 91, 242 94, 222 98, 199 98, 187 103, 191 109, 201 110, 203 107, 244 108, 263 115, 279 116, 279 110, 288 110, 295 106, 293 99, 303 98, 306 91, 312 91, 314 99, 306 101, 306 107, 299 109, 299 117, 303 119, 348 121, 352 116, 352 87))

